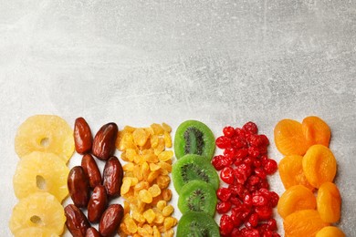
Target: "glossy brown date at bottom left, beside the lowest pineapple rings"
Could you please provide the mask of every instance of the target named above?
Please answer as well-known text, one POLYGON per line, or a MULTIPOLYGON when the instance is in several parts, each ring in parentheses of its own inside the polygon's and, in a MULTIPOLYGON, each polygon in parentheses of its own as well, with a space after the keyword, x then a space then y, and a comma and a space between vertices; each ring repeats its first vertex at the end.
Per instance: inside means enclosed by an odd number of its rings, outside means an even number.
POLYGON ((74 237, 85 237, 90 224, 84 213, 73 204, 69 204, 64 212, 66 214, 66 226, 74 237))

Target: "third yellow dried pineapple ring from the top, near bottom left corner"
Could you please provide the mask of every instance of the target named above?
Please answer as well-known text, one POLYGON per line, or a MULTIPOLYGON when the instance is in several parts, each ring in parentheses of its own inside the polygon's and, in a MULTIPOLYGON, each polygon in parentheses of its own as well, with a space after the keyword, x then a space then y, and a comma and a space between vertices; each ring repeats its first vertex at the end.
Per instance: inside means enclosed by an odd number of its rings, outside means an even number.
POLYGON ((65 222, 63 207, 56 197, 48 192, 36 192, 16 204, 9 227, 14 235, 29 227, 46 228, 48 232, 60 235, 65 222))

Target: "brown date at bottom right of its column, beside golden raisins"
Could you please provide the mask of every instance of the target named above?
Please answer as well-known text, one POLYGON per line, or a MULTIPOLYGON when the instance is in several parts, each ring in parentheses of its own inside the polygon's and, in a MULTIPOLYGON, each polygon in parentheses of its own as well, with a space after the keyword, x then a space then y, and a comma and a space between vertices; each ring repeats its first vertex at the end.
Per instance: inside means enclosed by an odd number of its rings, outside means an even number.
POLYGON ((101 216, 99 233, 102 236, 110 236, 118 230, 123 217, 123 208, 120 204, 111 204, 101 216))

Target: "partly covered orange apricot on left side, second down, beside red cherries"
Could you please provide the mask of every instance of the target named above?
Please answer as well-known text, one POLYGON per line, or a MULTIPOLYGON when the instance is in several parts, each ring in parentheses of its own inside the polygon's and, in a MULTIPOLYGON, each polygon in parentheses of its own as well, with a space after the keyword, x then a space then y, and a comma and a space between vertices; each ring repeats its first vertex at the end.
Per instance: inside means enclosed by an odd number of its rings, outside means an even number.
POLYGON ((304 185, 311 191, 314 190, 304 175, 302 160, 302 156, 292 155, 279 161, 279 176, 286 190, 298 184, 304 185))

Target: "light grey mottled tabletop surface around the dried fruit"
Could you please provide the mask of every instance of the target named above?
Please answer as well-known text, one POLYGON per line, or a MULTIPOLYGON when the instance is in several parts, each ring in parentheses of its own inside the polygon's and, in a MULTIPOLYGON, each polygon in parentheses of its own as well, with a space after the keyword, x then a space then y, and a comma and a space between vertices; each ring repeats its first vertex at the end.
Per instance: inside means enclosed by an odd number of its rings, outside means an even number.
MULTIPOLYGON (((194 118, 215 136, 252 120, 271 140, 281 118, 317 115, 339 164, 339 226, 356 236, 355 53, 355 1, 1 0, 0 236, 16 204, 16 129, 35 114, 82 116, 94 131, 194 118)), ((282 159, 273 142, 269 155, 282 159)))

